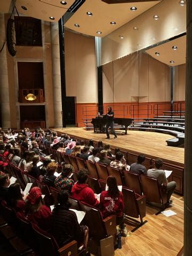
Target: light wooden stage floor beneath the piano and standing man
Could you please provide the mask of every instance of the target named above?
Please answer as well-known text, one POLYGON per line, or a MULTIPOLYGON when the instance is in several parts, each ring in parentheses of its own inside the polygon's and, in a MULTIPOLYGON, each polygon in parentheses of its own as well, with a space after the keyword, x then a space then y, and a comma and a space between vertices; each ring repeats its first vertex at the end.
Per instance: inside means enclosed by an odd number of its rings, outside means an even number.
POLYGON ((167 161, 184 164, 184 148, 169 147, 166 140, 174 138, 172 135, 145 132, 145 131, 127 131, 127 135, 118 135, 117 139, 106 139, 104 133, 94 133, 86 131, 83 127, 66 127, 63 129, 56 129, 59 132, 74 135, 75 137, 84 139, 93 139, 94 141, 102 140, 103 143, 110 144, 113 147, 119 147, 127 151, 136 151, 151 158, 163 158, 167 161))

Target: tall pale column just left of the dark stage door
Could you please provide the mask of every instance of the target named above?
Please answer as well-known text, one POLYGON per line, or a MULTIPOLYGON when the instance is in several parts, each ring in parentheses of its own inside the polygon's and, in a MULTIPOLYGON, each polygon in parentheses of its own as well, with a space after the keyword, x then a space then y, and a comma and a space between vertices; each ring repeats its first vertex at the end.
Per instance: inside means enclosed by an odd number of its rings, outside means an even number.
POLYGON ((52 80, 53 80, 53 104, 55 127, 62 126, 61 103, 61 78, 60 78, 60 51, 59 28, 57 22, 51 23, 51 55, 52 55, 52 80))

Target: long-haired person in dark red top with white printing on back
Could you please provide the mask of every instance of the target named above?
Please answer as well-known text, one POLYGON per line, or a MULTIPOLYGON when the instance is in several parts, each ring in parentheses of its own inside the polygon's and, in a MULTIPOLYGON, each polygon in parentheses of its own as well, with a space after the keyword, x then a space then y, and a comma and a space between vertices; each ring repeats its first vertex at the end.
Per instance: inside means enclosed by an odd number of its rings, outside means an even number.
POLYGON ((100 195, 100 211, 103 218, 115 214, 117 217, 117 225, 122 233, 122 236, 127 235, 125 227, 123 211, 124 197, 121 191, 118 190, 117 181, 114 176, 107 178, 108 190, 102 191, 100 195))

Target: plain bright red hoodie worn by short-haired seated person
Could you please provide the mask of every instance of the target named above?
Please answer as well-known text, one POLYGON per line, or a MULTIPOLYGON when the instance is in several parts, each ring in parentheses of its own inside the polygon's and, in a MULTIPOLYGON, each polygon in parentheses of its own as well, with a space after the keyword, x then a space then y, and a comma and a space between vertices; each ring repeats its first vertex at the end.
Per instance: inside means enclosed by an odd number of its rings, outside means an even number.
POLYGON ((71 196, 92 206, 99 205, 99 201, 95 198, 94 192, 88 184, 81 184, 77 181, 71 189, 71 196))

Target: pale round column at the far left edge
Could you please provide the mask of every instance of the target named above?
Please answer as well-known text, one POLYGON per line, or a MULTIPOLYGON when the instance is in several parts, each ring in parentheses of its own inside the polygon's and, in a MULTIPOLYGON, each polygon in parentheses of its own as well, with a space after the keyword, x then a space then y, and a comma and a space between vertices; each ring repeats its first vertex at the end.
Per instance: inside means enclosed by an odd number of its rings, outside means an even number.
MULTIPOLYGON (((5 42, 5 21, 4 14, 0 13, 0 48, 5 42)), ((0 97, 1 97, 1 116, 2 128, 11 126, 10 118, 10 99, 9 99, 9 80, 7 71, 6 44, 0 53, 0 97)))

